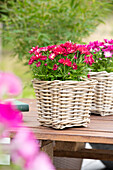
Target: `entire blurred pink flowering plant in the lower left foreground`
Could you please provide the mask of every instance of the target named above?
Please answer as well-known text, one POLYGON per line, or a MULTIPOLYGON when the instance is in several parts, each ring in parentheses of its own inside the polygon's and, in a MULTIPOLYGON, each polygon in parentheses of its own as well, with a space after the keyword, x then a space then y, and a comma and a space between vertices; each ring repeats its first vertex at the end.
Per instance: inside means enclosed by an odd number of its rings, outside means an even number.
POLYGON ((7 170, 55 170, 48 155, 40 151, 34 133, 23 124, 22 113, 12 100, 4 100, 6 96, 15 96, 21 91, 18 77, 12 73, 0 72, 0 139, 10 137, 12 131, 16 133, 9 146, 0 145, 0 153, 9 151, 11 156, 12 163, 7 166, 7 170))

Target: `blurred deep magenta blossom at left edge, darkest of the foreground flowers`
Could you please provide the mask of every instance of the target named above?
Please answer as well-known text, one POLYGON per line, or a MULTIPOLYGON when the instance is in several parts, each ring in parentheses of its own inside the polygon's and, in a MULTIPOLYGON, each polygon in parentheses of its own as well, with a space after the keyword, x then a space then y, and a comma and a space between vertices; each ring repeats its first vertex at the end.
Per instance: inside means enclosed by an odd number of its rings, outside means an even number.
POLYGON ((4 128, 17 128, 22 118, 22 113, 11 102, 0 103, 0 123, 4 128))

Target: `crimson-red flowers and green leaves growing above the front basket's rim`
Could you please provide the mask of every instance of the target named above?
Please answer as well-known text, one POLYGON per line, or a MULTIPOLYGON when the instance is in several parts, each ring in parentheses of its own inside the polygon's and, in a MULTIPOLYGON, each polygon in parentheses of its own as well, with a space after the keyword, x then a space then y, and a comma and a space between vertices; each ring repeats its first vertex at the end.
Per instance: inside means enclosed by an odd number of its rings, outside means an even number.
POLYGON ((93 55, 85 47, 67 41, 47 47, 32 47, 29 65, 39 80, 81 80, 87 77, 93 55))

